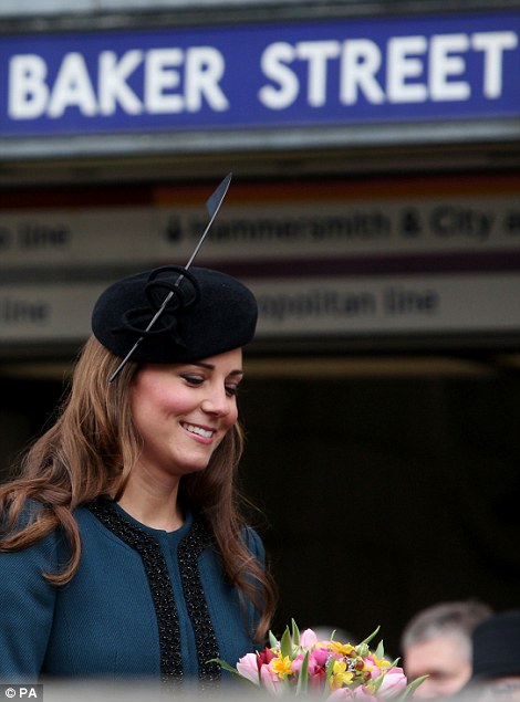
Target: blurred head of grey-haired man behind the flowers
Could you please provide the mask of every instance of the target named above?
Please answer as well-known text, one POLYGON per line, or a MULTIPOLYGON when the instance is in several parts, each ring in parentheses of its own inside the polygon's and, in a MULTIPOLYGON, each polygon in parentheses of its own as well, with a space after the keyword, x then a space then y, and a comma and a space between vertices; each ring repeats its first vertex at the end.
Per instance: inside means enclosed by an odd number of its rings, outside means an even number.
POLYGON ((428 675, 415 698, 449 696, 466 684, 471 675, 471 633, 491 614, 481 603, 456 601, 413 617, 401 641, 404 670, 410 681, 428 675))

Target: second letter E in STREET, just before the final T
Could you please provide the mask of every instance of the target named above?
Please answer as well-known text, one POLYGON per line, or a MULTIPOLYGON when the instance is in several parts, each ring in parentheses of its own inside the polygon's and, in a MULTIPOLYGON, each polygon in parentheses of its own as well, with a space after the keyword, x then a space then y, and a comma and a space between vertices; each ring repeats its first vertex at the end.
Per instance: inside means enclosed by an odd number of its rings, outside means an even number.
POLYGON ((466 70, 462 56, 454 52, 468 51, 467 34, 438 34, 431 36, 429 51, 429 94, 435 101, 466 101, 471 88, 466 81, 449 80, 466 70))

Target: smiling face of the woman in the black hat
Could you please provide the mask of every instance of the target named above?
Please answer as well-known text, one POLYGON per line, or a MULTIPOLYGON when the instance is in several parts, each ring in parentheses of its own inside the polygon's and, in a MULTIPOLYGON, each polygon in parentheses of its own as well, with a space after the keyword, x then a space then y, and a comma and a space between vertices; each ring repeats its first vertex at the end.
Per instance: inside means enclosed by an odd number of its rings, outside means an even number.
POLYGON ((144 444, 136 468, 177 476, 206 468, 238 419, 241 378, 240 348, 189 364, 144 366, 131 389, 144 444))

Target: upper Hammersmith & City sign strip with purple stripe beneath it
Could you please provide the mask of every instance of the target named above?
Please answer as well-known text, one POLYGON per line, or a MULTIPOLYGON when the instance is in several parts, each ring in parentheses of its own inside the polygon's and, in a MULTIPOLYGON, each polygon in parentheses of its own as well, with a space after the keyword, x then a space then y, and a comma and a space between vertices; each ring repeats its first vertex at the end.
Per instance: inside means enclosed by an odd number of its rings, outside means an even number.
MULTIPOLYGON (((354 276, 434 270, 520 273, 514 190, 410 195, 404 201, 306 196, 303 201, 303 192, 288 195, 269 208, 267 200, 230 198, 200 256, 240 266, 237 274, 262 277, 325 271, 354 276)), ((0 289, 7 272, 24 280, 28 268, 53 270, 72 282, 74 266, 95 275, 103 266, 178 263, 193 252, 204 214, 200 207, 184 203, 0 210, 0 289)))

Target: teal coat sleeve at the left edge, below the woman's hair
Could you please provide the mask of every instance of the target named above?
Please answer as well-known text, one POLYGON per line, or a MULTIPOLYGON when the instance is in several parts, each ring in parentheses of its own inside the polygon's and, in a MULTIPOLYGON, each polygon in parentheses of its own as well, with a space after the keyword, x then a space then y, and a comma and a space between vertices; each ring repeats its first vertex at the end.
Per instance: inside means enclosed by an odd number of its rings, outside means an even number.
POLYGON ((56 597, 42 573, 55 569, 56 556, 55 534, 0 553, 0 681, 34 682, 40 675, 56 597))

